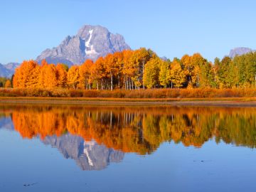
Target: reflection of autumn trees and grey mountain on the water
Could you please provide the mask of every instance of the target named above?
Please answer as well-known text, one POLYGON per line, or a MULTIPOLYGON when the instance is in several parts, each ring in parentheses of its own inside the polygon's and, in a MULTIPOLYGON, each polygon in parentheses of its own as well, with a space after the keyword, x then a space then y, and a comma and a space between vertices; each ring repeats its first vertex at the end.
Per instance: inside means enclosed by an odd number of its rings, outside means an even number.
POLYGON ((0 117, 1 127, 40 137, 83 170, 104 169, 127 152, 151 154, 163 142, 256 144, 255 108, 3 105, 0 117))

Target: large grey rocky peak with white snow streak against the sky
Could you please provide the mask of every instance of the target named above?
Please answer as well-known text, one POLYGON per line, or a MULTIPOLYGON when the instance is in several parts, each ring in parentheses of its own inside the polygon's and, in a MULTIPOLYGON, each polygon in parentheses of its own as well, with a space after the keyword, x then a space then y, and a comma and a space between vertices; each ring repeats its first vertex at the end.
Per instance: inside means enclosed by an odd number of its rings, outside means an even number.
POLYGON ((56 48, 46 49, 36 60, 48 63, 81 64, 87 59, 97 60, 107 53, 130 49, 123 36, 110 33, 102 26, 83 26, 75 36, 67 36, 56 48))

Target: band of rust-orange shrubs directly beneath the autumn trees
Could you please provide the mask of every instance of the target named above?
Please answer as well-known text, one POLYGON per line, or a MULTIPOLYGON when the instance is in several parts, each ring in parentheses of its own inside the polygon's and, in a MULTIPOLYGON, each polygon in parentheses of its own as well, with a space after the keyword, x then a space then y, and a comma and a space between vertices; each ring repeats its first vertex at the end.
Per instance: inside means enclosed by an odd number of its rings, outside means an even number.
POLYGON ((256 97, 256 89, 151 89, 151 90, 70 90, 63 88, 1 88, 0 97, 86 97, 86 98, 225 98, 256 97))

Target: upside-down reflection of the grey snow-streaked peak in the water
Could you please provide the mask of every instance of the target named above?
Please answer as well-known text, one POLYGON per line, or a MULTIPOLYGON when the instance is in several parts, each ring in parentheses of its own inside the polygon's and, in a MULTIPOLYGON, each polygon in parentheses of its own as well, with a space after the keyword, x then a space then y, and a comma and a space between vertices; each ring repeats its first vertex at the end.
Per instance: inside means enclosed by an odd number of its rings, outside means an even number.
POLYGON ((42 142, 57 148, 66 159, 74 159, 84 171, 105 169, 110 163, 119 163, 124 159, 122 151, 109 149, 93 140, 86 142, 72 134, 46 137, 42 142))

